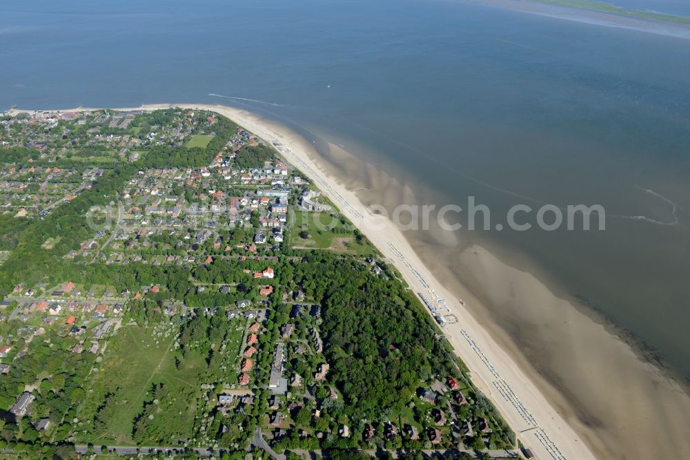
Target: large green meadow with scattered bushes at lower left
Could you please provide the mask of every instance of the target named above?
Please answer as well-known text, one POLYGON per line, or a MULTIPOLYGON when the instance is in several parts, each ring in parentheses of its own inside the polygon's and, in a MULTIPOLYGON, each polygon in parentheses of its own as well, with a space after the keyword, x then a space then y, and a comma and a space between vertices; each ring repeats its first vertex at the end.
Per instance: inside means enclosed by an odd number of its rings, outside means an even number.
POLYGON ((149 401, 152 385, 163 384, 165 396, 146 423, 155 425, 156 439, 170 445, 183 443, 193 433, 200 396, 200 375, 206 370, 202 358, 185 359, 178 369, 170 351, 177 327, 154 329, 125 325, 110 339, 97 370, 88 383, 88 397, 77 417, 86 422, 87 432, 77 441, 133 445, 135 419, 149 401), (167 336, 166 336, 167 333, 167 336))

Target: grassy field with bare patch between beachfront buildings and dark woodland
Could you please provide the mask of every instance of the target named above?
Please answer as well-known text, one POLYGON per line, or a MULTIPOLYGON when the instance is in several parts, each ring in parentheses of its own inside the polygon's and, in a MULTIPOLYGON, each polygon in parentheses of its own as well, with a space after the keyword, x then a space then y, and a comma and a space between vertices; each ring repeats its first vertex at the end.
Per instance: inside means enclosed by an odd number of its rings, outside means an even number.
POLYGON ((357 241, 351 226, 336 214, 295 211, 290 226, 290 242, 295 249, 330 249, 331 251, 368 256, 374 253, 366 240, 357 241), (299 234, 308 233, 307 238, 299 234))

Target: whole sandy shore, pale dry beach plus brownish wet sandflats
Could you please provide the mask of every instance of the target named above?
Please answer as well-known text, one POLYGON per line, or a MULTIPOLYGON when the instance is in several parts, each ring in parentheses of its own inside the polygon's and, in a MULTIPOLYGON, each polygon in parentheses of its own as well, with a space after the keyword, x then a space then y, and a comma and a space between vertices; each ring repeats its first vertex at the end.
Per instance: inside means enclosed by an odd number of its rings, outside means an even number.
POLYGON ((449 232, 431 231, 422 237, 403 233, 388 218, 368 210, 373 203, 420 201, 411 186, 335 145, 326 160, 304 137, 237 108, 155 104, 135 109, 170 106, 215 111, 267 142, 279 142, 285 159, 337 204, 413 291, 443 298, 449 314, 458 319, 444 327, 444 334, 471 370, 475 385, 536 458, 661 459, 682 458, 689 451, 685 427, 690 398, 601 324, 485 248, 458 244, 449 232), (348 168, 365 171, 369 182, 361 182, 361 175, 348 168), (348 173, 353 173, 349 181, 348 173), (357 189, 364 191, 353 191, 357 189), (435 256, 424 238, 455 251, 453 258, 435 256), (517 336, 524 340, 508 334, 506 325, 520 329, 517 336), (540 359, 533 361, 535 353, 540 359))

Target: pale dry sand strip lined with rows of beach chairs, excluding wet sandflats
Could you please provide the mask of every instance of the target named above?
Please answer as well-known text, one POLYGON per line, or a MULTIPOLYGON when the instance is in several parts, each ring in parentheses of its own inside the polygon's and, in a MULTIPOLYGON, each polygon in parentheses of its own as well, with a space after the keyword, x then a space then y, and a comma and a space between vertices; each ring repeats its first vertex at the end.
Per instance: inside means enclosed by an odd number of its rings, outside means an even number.
MULTIPOLYGON (((167 106, 144 106, 148 109, 162 107, 167 106)), ((181 107, 216 111, 267 142, 275 140, 282 144, 286 160, 308 175, 342 213, 362 229, 384 257, 396 265, 411 289, 426 295, 434 293, 446 299, 451 312, 460 318, 458 323, 444 328, 446 336, 470 368, 477 387, 495 403, 522 443, 529 446, 539 459, 595 458, 586 443, 549 404, 511 356, 477 323, 461 300, 435 279, 393 222, 368 211, 355 193, 320 167, 313 160, 314 153, 308 153, 311 146, 304 139, 235 108, 201 105, 181 107)))

